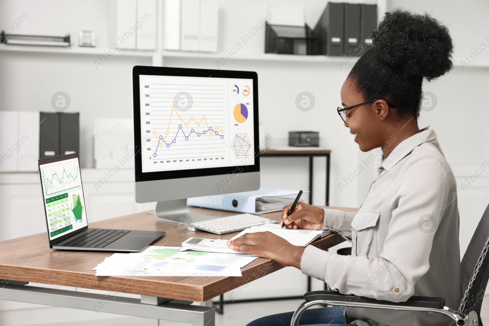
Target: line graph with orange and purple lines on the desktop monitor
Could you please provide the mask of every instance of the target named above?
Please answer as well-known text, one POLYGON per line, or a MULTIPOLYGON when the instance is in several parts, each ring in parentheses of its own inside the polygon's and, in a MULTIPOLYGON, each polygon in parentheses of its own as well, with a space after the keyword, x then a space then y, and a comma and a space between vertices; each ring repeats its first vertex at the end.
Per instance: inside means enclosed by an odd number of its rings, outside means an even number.
MULTIPOLYGON (((148 83, 141 129, 150 136, 144 148, 145 164, 157 169, 183 163, 206 166, 228 159, 228 108, 224 82, 196 84, 192 80, 148 83), (209 84, 209 85, 207 85, 209 84), (190 108, 176 106, 175 96, 185 92, 190 108)), ((200 82, 203 83, 203 82, 200 82)))

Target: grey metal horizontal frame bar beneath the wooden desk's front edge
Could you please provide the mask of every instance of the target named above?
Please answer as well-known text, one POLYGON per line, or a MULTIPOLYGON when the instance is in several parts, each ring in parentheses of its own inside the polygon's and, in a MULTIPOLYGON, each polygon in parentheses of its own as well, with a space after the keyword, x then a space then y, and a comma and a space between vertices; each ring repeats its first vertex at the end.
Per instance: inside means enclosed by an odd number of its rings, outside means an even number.
POLYGON ((47 304, 66 308, 108 312, 152 319, 162 319, 193 326, 214 326, 216 310, 213 307, 190 305, 190 301, 159 300, 145 296, 141 303, 138 299, 116 297, 78 291, 57 290, 44 287, 5 284, 0 287, 0 300, 26 302, 31 304, 47 304))

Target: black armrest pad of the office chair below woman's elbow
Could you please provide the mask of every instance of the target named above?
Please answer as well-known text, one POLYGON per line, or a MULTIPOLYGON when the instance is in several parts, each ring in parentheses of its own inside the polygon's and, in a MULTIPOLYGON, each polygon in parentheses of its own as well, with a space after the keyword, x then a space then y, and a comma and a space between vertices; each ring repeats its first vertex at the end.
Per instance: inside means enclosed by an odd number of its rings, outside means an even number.
POLYGON ((443 309, 443 307, 445 306, 445 298, 412 296, 405 302, 391 302, 365 297, 357 297, 355 295, 345 295, 339 293, 338 291, 312 291, 304 294, 304 299, 306 300, 306 302, 316 300, 330 300, 357 302, 362 304, 399 305, 407 307, 422 307, 434 309, 443 309))

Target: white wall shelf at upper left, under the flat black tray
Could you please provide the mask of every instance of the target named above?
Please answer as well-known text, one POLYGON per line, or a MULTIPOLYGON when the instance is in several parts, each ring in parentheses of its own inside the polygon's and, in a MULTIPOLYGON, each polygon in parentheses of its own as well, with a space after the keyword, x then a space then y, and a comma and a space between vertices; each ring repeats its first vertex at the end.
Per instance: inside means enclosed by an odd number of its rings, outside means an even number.
MULTIPOLYGON (((79 46, 33 46, 33 45, 8 45, 1 44, 0 52, 34 52, 34 53, 61 53, 61 54, 78 54, 78 55, 101 55, 106 54, 104 50, 106 48, 101 47, 79 47, 79 46)), ((114 56, 139 56, 139 57, 153 57, 152 50, 124 50, 120 49, 115 51, 114 56)))

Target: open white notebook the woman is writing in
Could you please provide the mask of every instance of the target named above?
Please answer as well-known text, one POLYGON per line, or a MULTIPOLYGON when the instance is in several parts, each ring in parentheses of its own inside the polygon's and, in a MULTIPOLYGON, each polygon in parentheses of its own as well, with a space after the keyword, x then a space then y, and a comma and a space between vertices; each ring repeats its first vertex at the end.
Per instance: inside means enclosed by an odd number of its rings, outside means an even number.
POLYGON ((305 247, 317 238, 327 236, 331 231, 323 230, 291 230, 287 228, 281 228, 279 224, 267 223, 260 226, 252 226, 249 229, 243 230, 237 236, 231 238, 231 240, 237 239, 246 233, 256 233, 270 231, 271 233, 286 239, 294 246, 305 247))

